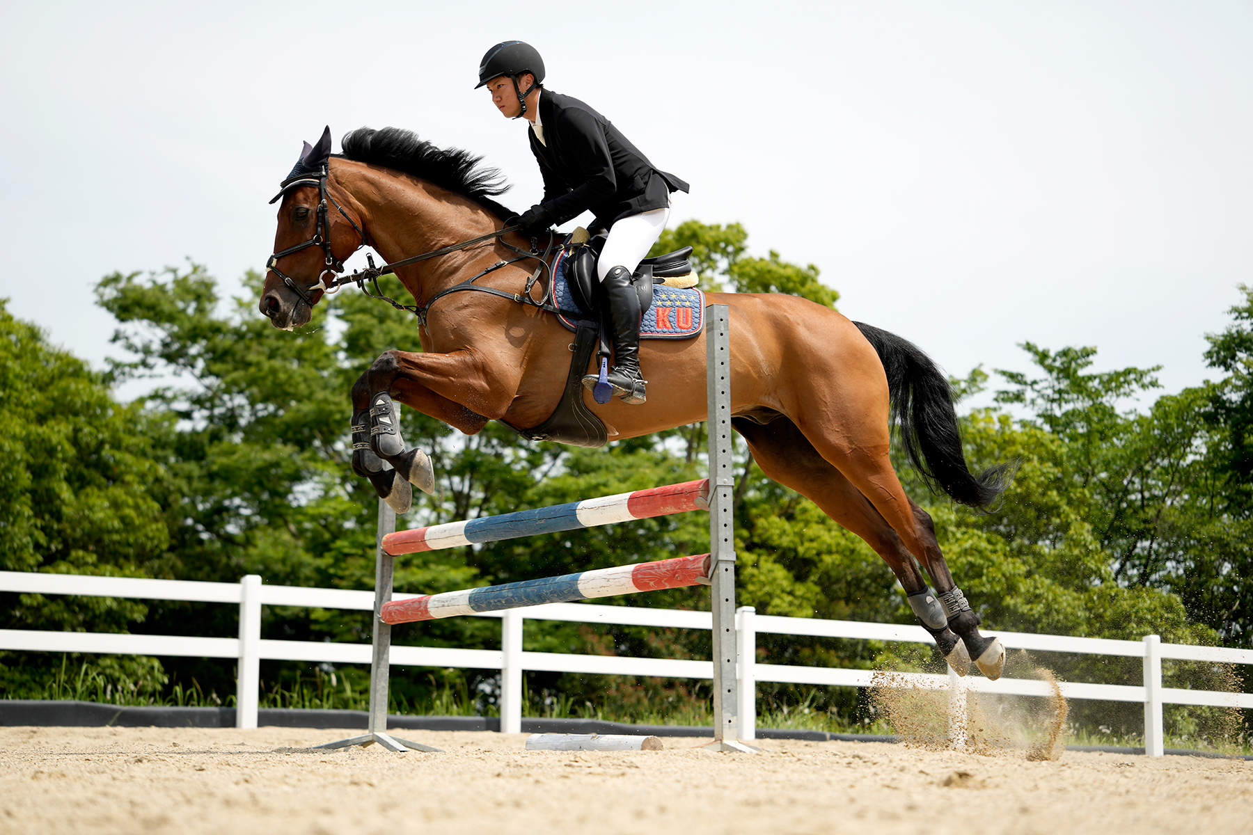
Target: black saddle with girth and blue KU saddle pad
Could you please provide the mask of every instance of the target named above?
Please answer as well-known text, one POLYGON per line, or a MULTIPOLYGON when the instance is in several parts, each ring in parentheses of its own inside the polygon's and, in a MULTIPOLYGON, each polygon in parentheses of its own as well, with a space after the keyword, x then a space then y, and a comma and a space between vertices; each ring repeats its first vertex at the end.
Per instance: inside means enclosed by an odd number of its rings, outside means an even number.
MULTIPOLYGON (((565 391, 553 414, 544 423, 524 429, 509 426, 530 441, 555 441, 575 447, 599 448, 609 441, 604 422, 584 403, 583 376, 588 373, 593 352, 613 353, 608 304, 596 280, 596 259, 604 238, 589 239, 585 229, 566 238, 549 270, 545 297, 558 308, 558 319, 574 332, 570 344, 570 372, 565 391)), ((692 247, 640 262, 632 275, 639 294, 642 339, 688 339, 704 327, 704 293, 695 289, 697 274, 689 257, 692 247), (653 308, 654 295, 665 304, 653 308)))

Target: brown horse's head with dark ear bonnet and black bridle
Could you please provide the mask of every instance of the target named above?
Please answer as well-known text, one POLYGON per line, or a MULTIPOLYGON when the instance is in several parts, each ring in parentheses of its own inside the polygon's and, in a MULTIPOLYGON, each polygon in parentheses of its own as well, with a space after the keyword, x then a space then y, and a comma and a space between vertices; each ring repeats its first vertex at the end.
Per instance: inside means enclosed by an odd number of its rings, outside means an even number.
POLYGON ((304 143, 296 168, 271 203, 278 204, 274 253, 266 262, 261 312, 276 328, 292 329, 313 317, 313 305, 343 270, 343 259, 363 243, 363 235, 330 195, 331 128, 318 143, 304 143), (328 202, 338 209, 333 215, 328 202), (337 257, 335 253, 345 253, 337 257))

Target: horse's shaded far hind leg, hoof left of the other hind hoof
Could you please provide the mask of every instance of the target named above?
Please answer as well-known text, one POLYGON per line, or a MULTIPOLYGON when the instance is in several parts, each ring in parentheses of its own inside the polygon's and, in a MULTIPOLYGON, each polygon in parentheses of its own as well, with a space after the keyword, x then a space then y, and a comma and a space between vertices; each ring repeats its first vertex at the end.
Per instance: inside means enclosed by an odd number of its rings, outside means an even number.
POLYGON ((935 638, 949 666, 959 675, 966 675, 970 670, 970 655, 965 642, 949 628, 942 607, 927 588, 926 578, 901 537, 861 491, 818 454, 792 421, 781 417, 762 426, 734 418, 732 423, 748 442, 762 472, 811 499, 823 513, 860 536, 883 558, 905 588, 918 622, 935 638))

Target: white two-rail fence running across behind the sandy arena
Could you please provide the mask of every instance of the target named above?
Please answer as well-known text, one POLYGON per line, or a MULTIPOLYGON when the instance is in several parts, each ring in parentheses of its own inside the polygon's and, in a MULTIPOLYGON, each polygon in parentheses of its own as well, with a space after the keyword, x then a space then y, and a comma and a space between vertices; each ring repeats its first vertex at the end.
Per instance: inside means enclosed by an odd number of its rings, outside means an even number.
MULTIPOLYGON (((0 571, 0 591, 44 595, 86 595, 100 597, 137 597, 147 600, 187 600, 212 603, 233 603, 239 607, 239 637, 185 637, 173 635, 117 635, 103 632, 41 632, 34 630, 0 630, 0 650, 40 652, 96 652, 123 655, 163 655, 238 661, 237 724, 257 726, 259 689, 258 665, 262 658, 331 663, 370 663, 368 643, 328 643, 325 641, 271 641, 261 638, 261 607, 299 606, 317 608, 348 608, 372 611, 372 591, 340 588, 304 588, 298 586, 266 586, 261 577, 248 575, 238 583, 192 582, 185 580, 137 580, 125 577, 90 577, 0 571)), ((413 595, 395 595, 403 600, 413 595)), ((523 621, 573 621, 579 623, 613 623, 670 628, 712 628, 709 612, 589 603, 549 603, 515 608, 506 612, 476 615, 500 617, 500 650, 459 650, 452 647, 392 646, 391 663, 406 667, 467 667, 500 670, 502 686, 516 692, 502 692, 501 701, 509 716, 501 716, 501 727, 517 729, 521 722, 521 671, 581 672, 593 675, 662 676, 668 679, 712 679, 710 661, 670 658, 635 658, 623 656, 575 655, 558 652, 526 652, 523 650, 523 621)), ((784 684, 868 687, 875 675, 868 670, 804 667, 757 663, 757 635, 806 635, 872 641, 907 641, 931 643, 921 626, 867 623, 858 621, 823 621, 806 617, 774 617, 757 615, 752 607, 737 612, 739 642, 739 729, 741 739, 752 740, 756 729, 756 696, 758 681, 784 684)), ((1157 635, 1143 641, 1115 641, 1061 635, 1025 632, 985 632, 995 635, 1007 648, 1041 652, 1070 652, 1138 657, 1144 662, 1143 685, 1101 685, 1064 682, 1061 692, 1068 699, 1143 702, 1145 749, 1150 756, 1162 756, 1162 706, 1209 705, 1218 707, 1253 709, 1253 694, 1205 690, 1183 690, 1162 686, 1162 660, 1209 661, 1222 663, 1253 663, 1253 651, 1222 647, 1162 643, 1157 635)), ((957 680, 949 676, 906 674, 910 684, 930 689, 960 687, 969 692, 1048 696, 1049 685, 1024 679, 989 681, 980 676, 957 680)))

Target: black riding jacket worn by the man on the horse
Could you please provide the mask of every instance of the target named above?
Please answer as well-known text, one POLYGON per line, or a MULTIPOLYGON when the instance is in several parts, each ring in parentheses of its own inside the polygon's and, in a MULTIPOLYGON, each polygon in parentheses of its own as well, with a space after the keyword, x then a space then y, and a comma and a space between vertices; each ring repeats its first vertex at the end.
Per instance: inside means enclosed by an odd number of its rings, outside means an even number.
POLYGON ((544 174, 544 209, 556 223, 591 210, 609 228, 619 218, 662 209, 688 184, 658 170, 611 121, 583 101, 540 90, 541 144, 528 129, 544 174))

